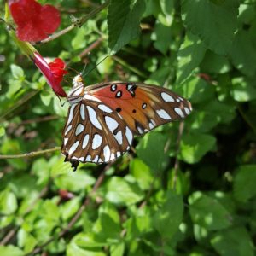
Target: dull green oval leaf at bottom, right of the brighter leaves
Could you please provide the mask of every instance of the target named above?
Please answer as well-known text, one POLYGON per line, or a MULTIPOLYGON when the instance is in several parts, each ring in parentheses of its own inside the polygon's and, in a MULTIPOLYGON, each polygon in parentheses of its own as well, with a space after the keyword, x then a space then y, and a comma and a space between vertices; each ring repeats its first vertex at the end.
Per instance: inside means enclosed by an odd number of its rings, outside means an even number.
POLYGON ((154 214, 154 227, 163 238, 172 239, 183 219, 183 198, 167 192, 163 204, 154 214))

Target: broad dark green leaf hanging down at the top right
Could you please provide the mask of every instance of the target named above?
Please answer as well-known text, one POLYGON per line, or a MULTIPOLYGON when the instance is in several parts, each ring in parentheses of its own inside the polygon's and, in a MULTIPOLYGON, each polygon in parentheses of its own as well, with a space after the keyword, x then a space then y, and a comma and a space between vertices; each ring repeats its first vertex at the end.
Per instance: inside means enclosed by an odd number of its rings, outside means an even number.
POLYGON ((217 54, 229 53, 237 26, 238 0, 218 5, 210 0, 183 0, 183 20, 189 30, 217 54))

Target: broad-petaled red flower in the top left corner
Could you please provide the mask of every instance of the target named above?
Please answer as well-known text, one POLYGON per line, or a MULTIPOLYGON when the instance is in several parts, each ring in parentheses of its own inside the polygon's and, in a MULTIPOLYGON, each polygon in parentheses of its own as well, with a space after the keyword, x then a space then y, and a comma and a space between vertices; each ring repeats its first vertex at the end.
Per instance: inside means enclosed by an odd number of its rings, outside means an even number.
POLYGON ((35 0, 9 0, 9 9, 21 41, 43 40, 61 24, 59 11, 49 4, 42 6, 35 0))

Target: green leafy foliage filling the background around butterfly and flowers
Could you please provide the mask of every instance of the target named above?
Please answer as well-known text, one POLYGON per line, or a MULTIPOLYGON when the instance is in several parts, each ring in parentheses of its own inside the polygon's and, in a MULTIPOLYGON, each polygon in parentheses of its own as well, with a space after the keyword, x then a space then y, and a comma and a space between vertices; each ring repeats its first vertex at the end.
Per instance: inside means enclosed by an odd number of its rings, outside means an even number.
MULTIPOLYGON (((99 4, 58 1, 61 28, 70 13, 83 16, 99 4)), ((0 29, 0 153, 60 146, 67 103, 61 107, 3 23, 0 29)), ((72 172, 59 151, 1 160, 0 255, 255 254, 255 0, 111 0, 37 48, 78 71, 110 53, 86 84, 159 84, 187 97, 194 112, 182 133, 175 123, 137 137, 134 150, 105 171, 81 164, 72 172)))

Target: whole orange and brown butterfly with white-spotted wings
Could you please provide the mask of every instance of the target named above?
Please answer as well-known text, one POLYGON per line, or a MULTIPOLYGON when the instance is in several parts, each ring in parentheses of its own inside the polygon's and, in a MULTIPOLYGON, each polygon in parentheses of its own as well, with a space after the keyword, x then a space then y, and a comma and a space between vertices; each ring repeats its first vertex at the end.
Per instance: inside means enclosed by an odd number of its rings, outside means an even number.
POLYGON ((79 162, 116 160, 131 148, 135 135, 184 119, 192 111, 189 101, 160 86, 107 82, 85 87, 81 74, 73 78, 67 100, 61 153, 74 171, 79 162))

